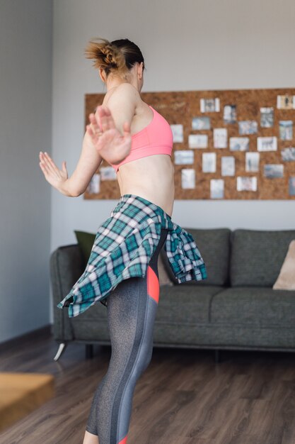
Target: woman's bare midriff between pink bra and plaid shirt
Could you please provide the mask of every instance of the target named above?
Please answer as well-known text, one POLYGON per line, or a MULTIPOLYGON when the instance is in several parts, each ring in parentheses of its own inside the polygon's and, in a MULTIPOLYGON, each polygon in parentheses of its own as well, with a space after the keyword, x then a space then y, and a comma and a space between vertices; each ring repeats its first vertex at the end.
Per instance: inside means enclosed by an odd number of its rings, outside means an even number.
POLYGON ((123 194, 137 194, 153 202, 172 217, 174 203, 174 167, 167 154, 132 160, 120 166, 117 181, 123 194))

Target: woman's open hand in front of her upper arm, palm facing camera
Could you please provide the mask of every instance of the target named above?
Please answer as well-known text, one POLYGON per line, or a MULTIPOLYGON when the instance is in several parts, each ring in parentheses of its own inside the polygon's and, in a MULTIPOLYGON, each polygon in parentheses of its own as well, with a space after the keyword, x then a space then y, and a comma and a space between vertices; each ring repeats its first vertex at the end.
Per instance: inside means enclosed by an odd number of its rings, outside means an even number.
POLYGON ((86 133, 90 135, 101 157, 114 165, 125 159, 130 152, 132 141, 129 123, 124 123, 122 135, 106 106, 98 106, 95 114, 89 114, 89 120, 91 124, 87 125, 86 133))

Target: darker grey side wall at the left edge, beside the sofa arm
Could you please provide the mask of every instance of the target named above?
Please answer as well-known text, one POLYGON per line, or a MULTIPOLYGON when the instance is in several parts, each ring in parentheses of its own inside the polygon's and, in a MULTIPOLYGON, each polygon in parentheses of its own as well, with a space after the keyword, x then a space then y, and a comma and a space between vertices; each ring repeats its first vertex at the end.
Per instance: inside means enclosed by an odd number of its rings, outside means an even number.
POLYGON ((50 322, 52 1, 0 1, 0 342, 50 322))

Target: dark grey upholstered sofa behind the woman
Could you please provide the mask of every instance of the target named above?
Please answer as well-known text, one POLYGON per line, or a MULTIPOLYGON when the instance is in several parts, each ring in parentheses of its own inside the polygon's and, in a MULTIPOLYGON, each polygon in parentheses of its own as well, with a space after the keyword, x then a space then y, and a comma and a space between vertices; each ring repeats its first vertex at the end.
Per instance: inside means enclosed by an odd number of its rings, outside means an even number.
MULTIPOLYGON (((154 346, 210 348, 216 361, 223 349, 295 351, 295 291, 272 289, 295 230, 185 229, 202 253, 208 278, 178 284, 162 248, 159 260, 173 285, 161 285, 154 346)), ((54 360, 73 341, 86 345, 87 357, 93 344, 110 344, 103 304, 74 318, 56 306, 85 265, 78 244, 52 252, 52 332, 59 343, 54 360)))

